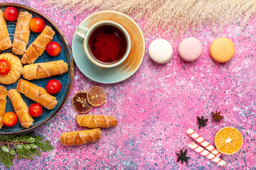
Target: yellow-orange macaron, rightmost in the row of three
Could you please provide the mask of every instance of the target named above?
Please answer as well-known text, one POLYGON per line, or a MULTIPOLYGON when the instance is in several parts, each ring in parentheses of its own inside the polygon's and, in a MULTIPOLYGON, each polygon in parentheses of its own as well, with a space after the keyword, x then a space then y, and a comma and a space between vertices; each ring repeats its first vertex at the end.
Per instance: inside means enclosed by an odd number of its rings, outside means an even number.
POLYGON ((215 62, 228 62, 235 55, 235 45, 228 38, 218 38, 211 42, 209 52, 215 62))

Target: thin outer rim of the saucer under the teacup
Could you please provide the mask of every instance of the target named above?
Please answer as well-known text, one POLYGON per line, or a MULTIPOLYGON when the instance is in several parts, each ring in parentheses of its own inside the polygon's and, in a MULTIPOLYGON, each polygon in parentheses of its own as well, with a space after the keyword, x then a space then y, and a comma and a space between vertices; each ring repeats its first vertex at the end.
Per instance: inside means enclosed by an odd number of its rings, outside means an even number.
MULTIPOLYGON (((80 26, 83 22, 85 22, 89 17, 94 17, 95 15, 97 15, 97 14, 99 14, 99 13, 105 13, 105 12, 111 12, 111 13, 116 13, 116 14, 118 14, 118 15, 123 15, 123 16, 129 18, 129 20, 132 21, 132 22, 135 24, 135 26, 137 26, 137 28, 139 28, 139 25, 138 25, 131 17, 129 17, 129 16, 127 16, 126 14, 121 13, 121 12, 119 12, 119 11, 112 11, 112 10, 103 10, 103 11, 98 11, 98 12, 92 13, 90 16, 87 16, 85 19, 83 19, 83 20, 78 24, 78 26, 80 26)), ((78 30, 78 27, 75 29, 75 32, 76 32, 77 30, 78 30)), ((126 79, 129 79, 129 77, 132 77, 132 75, 133 75, 135 72, 137 72, 137 70, 138 70, 139 67, 141 66, 141 64, 142 64, 142 62, 143 62, 143 59, 144 59, 144 56, 145 56, 145 47, 146 47, 146 45, 145 45, 145 39, 144 39, 144 35, 143 35, 143 33, 142 33, 142 29, 141 29, 141 28, 139 28, 139 33, 140 33, 140 35, 142 35, 142 40, 143 40, 143 56, 142 56, 142 60, 141 60, 141 61, 139 62, 139 64, 138 64, 137 69, 134 69, 134 71, 131 72, 131 74, 130 74, 128 77, 125 77, 124 79, 120 79, 120 80, 117 80, 117 81, 111 81, 111 82, 96 81, 94 78, 89 77, 87 74, 84 73, 84 71, 82 71, 82 69, 80 69, 80 67, 78 66, 78 64, 76 64, 75 55, 73 55, 73 58, 74 58, 74 61, 75 61, 76 66, 78 67, 78 69, 80 70, 80 72, 82 72, 82 74, 85 75, 85 77, 87 77, 88 79, 91 79, 92 81, 95 81, 95 82, 97 82, 97 83, 101 83, 101 84, 115 84, 115 83, 119 83, 119 82, 121 82, 121 81, 124 81, 124 80, 126 80, 126 79)), ((72 53, 73 53, 73 51, 74 51, 74 50, 73 50, 74 38, 75 38, 75 33, 74 33, 73 39, 72 39, 72 47, 71 47, 71 48, 72 48, 72 53)), ((118 67, 118 66, 117 66, 117 67, 118 67)), ((110 69, 111 69, 111 68, 110 68, 110 69)))

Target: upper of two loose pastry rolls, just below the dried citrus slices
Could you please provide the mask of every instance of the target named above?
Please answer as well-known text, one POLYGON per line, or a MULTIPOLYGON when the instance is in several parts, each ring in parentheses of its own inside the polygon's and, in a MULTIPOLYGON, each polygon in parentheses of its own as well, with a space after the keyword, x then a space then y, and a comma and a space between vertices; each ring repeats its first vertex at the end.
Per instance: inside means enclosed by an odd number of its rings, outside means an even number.
POLYGON ((87 128, 110 128, 117 125, 113 116, 104 115, 76 115, 78 125, 87 128))

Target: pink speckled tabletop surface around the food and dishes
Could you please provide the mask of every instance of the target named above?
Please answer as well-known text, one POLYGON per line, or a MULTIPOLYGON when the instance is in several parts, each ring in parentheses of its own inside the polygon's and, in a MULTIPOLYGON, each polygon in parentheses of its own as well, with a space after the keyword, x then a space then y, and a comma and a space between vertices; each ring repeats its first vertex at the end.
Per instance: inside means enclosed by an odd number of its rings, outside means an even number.
MULTIPOLYGON (((71 45, 75 28, 93 11, 75 16, 73 10, 60 11, 43 1, 14 2, 36 8, 51 18, 63 31, 71 45)), ((178 56, 178 40, 174 41, 174 56, 166 64, 156 64, 148 55, 149 43, 159 35, 145 37, 146 54, 138 71, 119 84, 98 84, 87 79, 75 67, 73 88, 62 110, 46 125, 35 130, 52 142, 52 152, 44 152, 35 160, 14 162, 14 169, 256 169, 255 142, 255 19, 245 26, 224 28, 216 37, 203 28, 195 37, 203 44, 203 53, 196 62, 184 62, 178 56), (215 38, 233 40, 235 57, 219 64, 210 59, 208 47, 215 38), (78 91, 102 86, 107 101, 92 108, 89 114, 112 115, 119 123, 115 128, 102 130, 102 139, 87 145, 65 147, 60 145, 62 132, 85 130, 75 122, 77 113, 71 99, 78 91), (225 119, 211 121, 210 111, 222 111, 225 119), (196 116, 208 118, 206 128, 198 129, 196 116), (214 144, 214 135, 220 128, 232 126, 242 133, 244 143, 231 156, 222 155, 225 168, 187 147, 193 141, 186 135, 188 127, 196 130, 214 144), (176 163, 175 153, 188 149, 188 165, 176 163)), ((142 28, 142 23, 139 23, 142 28)), ((186 35, 185 37, 190 36, 186 35)), ((171 42, 171 37, 165 37, 171 42)), ((5 169, 1 166, 1 169, 5 169)))

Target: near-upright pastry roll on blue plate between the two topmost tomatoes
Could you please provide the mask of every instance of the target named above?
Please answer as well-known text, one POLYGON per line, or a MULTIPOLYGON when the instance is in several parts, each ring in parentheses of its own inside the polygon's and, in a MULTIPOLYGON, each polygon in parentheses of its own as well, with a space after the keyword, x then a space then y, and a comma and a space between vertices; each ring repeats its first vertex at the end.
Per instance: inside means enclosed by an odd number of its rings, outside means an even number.
POLYGON ((29 28, 31 18, 32 15, 28 13, 28 11, 18 13, 12 48, 12 51, 16 55, 23 55, 26 51, 26 46, 28 45, 28 40, 31 33, 29 28))

